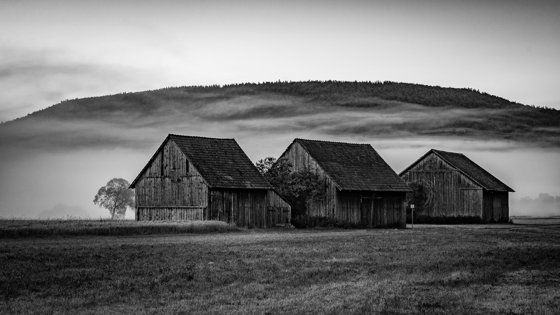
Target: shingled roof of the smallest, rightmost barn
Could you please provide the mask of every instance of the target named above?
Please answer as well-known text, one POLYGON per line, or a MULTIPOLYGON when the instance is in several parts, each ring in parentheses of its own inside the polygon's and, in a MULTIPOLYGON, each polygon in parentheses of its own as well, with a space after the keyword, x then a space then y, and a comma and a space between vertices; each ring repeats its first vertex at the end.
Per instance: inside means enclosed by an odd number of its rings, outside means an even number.
MULTIPOLYGON (((500 179, 497 179, 496 177, 494 177, 494 175, 488 173, 487 170, 481 168, 478 164, 474 163, 472 160, 467 158, 462 153, 447 152, 447 151, 432 149, 428 151, 426 154, 424 154, 424 156, 430 154, 430 152, 434 152, 435 154, 440 156, 440 158, 444 159, 447 163, 454 166, 460 172, 463 172, 472 180, 480 184, 480 186, 482 186, 484 189, 487 189, 489 191, 515 192, 514 189, 511 189, 506 184, 502 183, 500 179)), ((422 160, 424 156, 418 159, 418 161, 422 160)), ((408 166, 408 168, 403 170, 402 173, 410 169, 418 161, 408 166)))

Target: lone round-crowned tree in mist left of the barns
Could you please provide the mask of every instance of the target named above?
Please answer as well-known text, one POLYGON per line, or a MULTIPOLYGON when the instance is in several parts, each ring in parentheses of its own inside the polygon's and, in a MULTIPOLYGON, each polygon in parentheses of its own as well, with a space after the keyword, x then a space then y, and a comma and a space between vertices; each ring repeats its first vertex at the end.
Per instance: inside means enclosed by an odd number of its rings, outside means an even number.
POLYGON ((100 208, 109 210, 111 220, 124 217, 127 209, 134 207, 134 192, 129 189, 130 183, 122 178, 113 178, 99 188, 95 195, 94 203, 100 208))

